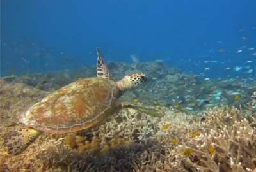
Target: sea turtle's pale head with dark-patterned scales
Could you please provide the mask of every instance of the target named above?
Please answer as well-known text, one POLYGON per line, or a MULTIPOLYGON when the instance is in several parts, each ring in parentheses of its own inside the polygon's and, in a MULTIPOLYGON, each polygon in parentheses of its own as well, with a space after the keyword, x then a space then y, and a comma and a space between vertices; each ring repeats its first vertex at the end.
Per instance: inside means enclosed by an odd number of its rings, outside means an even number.
POLYGON ((122 80, 116 82, 118 89, 122 92, 128 89, 132 89, 141 85, 141 83, 145 82, 147 77, 143 73, 134 73, 132 75, 127 75, 122 78, 122 80))

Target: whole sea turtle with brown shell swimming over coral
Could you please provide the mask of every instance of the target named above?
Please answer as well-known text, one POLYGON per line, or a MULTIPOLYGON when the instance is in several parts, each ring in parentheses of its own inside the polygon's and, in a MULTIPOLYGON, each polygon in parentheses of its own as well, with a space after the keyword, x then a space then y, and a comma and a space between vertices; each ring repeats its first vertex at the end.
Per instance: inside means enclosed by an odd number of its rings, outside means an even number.
POLYGON ((9 154, 20 154, 41 133, 76 133, 95 127, 120 108, 134 108, 154 116, 163 113, 159 108, 119 102, 125 90, 140 85, 147 78, 143 73, 134 73, 114 82, 99 48, 97 55, 97 77, 72 82, 22 113, 19 122, 13 124, 22 127, 8 133, 4 141, 9 154))

